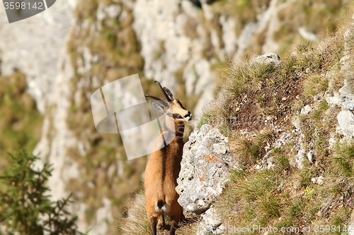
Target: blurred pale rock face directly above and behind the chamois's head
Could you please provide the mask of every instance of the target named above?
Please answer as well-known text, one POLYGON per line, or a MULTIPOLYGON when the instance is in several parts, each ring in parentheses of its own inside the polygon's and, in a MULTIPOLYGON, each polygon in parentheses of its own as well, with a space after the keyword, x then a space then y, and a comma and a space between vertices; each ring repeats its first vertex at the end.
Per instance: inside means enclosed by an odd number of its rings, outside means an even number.
MULTIPOLYGON (((216 61, 202 56, 210 36, 201 23, 195 25, 194 32, 198 38, 190 38, 185 33, 188 20, 200 22, 200 11, 189 1, 137 0, 133 15, 135 32, 142 44, 144 75, 159 80, 166 87, 175 88, 176 73, 182 72, 187 95, 203 95, 205 98, 193 113, 200 112, 207 102, 213 100, 208 88, 213 87, 215 74, 211 65, 216 61)), ((220 58, 224 58, 224 49, 216 47, 218 44, 219 41, 212 47, 220 58)))

